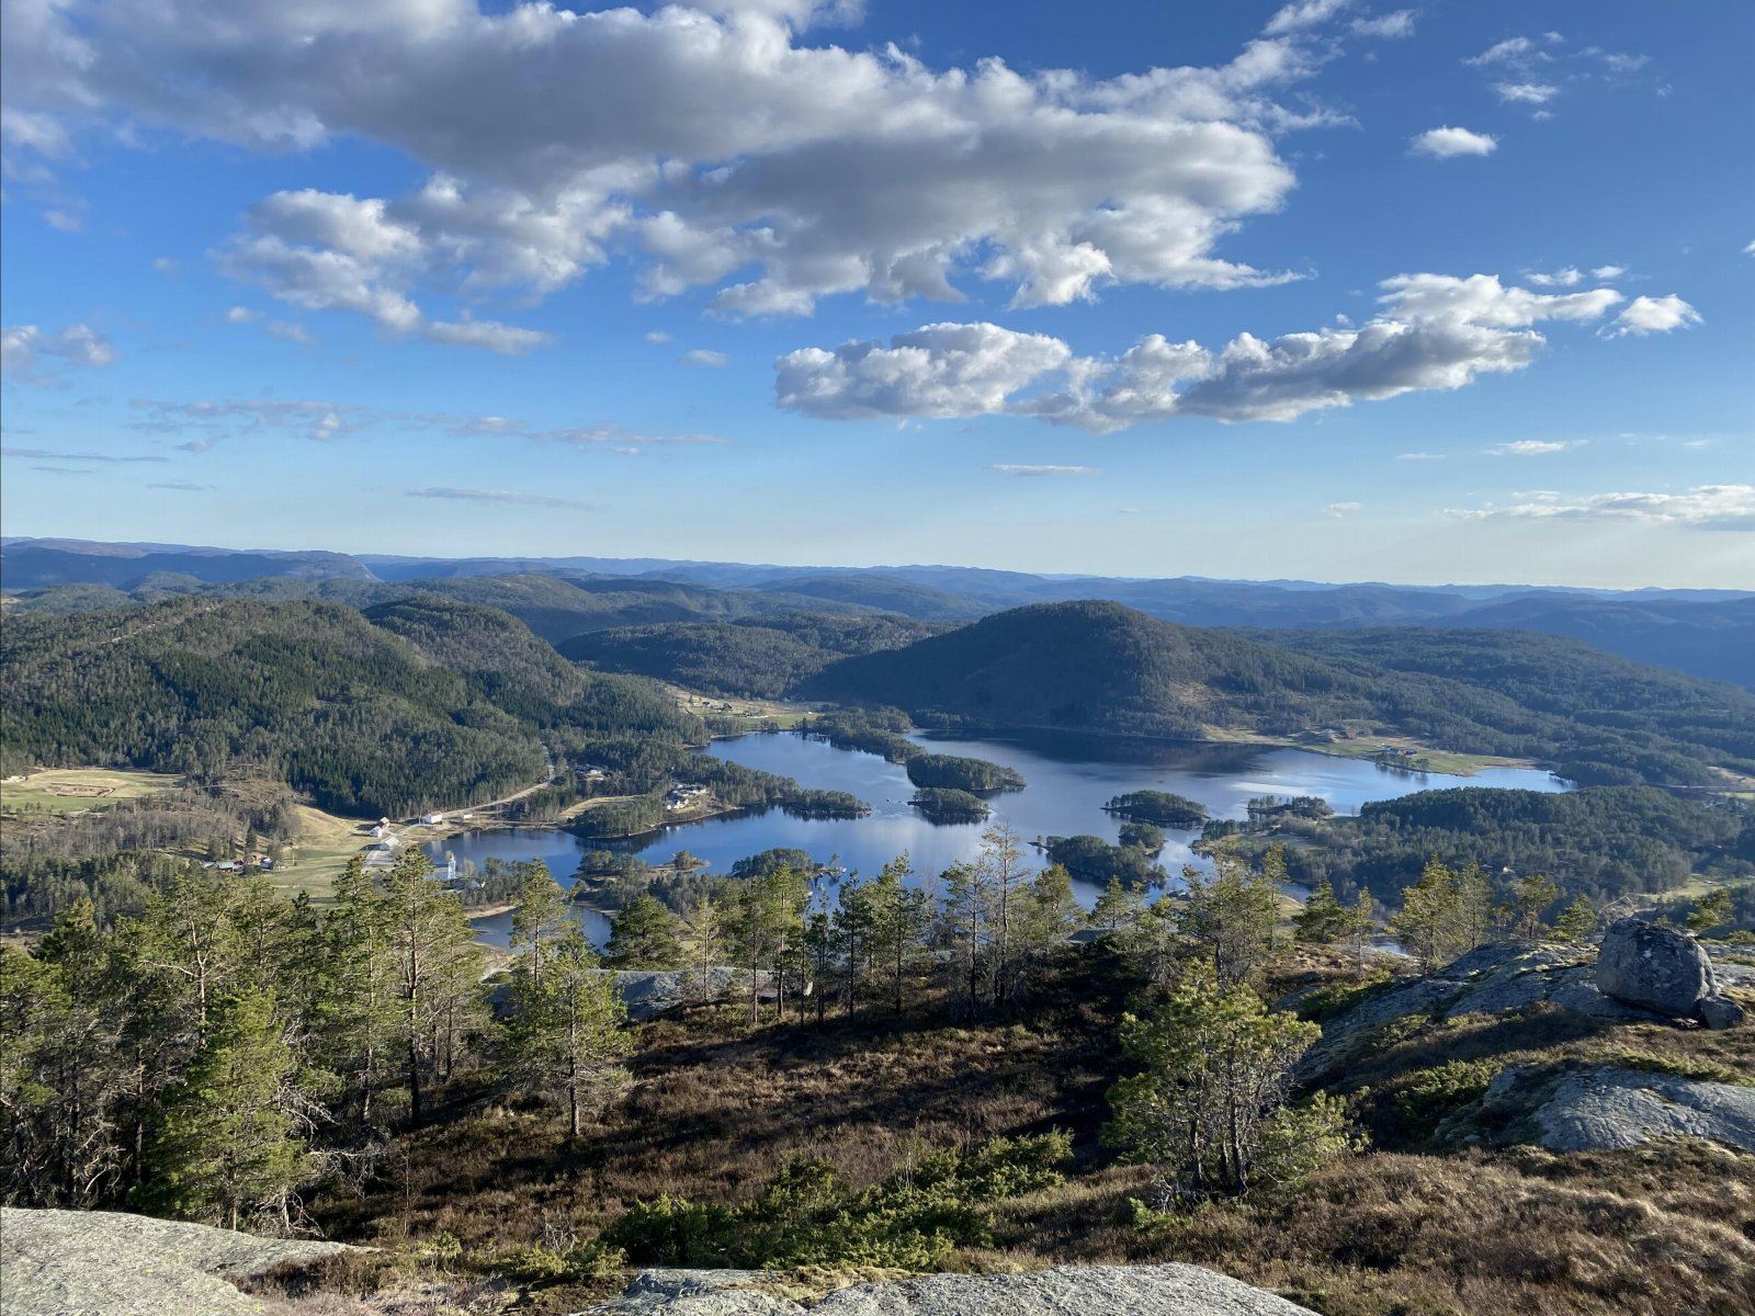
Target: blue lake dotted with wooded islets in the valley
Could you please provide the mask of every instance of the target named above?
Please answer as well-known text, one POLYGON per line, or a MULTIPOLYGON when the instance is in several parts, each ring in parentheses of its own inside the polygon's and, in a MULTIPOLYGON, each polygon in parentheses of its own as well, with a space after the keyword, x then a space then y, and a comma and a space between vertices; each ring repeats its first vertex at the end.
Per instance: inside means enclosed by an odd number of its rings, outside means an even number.
MULTIPOLYGON (((1243 818, 1246 802, 1260 795, 1320 795, 1336 812, 1351 814, 1372 800, 1444 786, 1565 790, 1565 783, 1536 769, 1486 769, 1472 777, 1453 777, 1262 746, 1116 742, 1067 735, 971 740, 916 733, 911 739, 930 746, 934 753, 985 758, 1021 772, 1028 783, 1025 790, 997 795, 990 805, 993 821, 1011 825, 1023 840, 1085 832, 1114 840, 1120 819, 1106 814, 1102 805, 1114 795, 1135 790, 1186 795, 1204 804, 1214 818, 1243 818)), ((667 826, 620 842, 618 849, 655 863, 686 849, 706 860, 709 872, 723 874, 748 855, 784 846, 804 849, 820 863, 834 862, 863 876, 876 874, 906 849, 916 872, 937 874, 958 860, 972 858, 986 828, 986 823, 928 823, 907 804, 914 788, 900 765, 856 749, 835 749, 793 732, 714 740, 702 753, 793 777, 802 786, 849 791, 865 800, 872 812, 867 818, 842 819, 792 818, 779 809, 725 814, 667 826)), ((1188 849, 1193 839, 1192 832, 1172 832, 1160 855, 1164 867, 1174 874, 1183 863, 1199 862, 1188 849)), ((605 842, 584 842, 553 828, 509 828, 465 832, 430 844, 426 853, 439 863, 451 853, 458 863, 474 862, 476 867, 488 858, 539 858, 567 884, 579 853, 602 848, 605 842)), ((1076 888, 1086 905, 1095 900, 1095 888, 1083 883, 1076 888)), ((505 944, 509 926, 509 914, 477 923, 483 939, 495 944, 505 944)), ((586 914, 586 930, 593 941, 607 935, 598 914, 586 914)))

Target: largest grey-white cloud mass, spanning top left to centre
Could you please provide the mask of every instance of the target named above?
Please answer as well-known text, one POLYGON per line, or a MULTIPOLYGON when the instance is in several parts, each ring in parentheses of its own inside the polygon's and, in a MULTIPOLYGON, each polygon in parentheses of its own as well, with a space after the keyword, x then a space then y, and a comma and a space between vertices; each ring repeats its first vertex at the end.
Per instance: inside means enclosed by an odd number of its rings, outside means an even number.
POLYGON ((809 35, 856 9, 54 0, 9 23, 7 112, 39 151, 125 123, 398 149, 430 170, 414 193, 276 193, 219 267, 293 305, 493 349, 530 340, 484 319, 426 330, 428 290, 541 297, 612 251, 644 297, 711 288, 725 314, 956 302, 976 279, 1051 305, 1285 277, 1220 246, 1290 193, 1276 133, 1337 121, 1278 97, 1322 61, 1311 30, 1341 0, 1286 5, 1228 63, 1111 79, 930 68, 809 35))

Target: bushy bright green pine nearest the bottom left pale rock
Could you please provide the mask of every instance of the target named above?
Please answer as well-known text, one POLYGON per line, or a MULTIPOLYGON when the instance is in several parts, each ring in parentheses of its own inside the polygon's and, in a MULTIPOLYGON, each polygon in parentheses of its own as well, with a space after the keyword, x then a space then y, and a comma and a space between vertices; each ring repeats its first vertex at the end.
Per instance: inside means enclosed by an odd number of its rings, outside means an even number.
POLYGON ((153 1139, 147 1202, 226 1228, 256 1212, 290 1228, 293 1193, 312 1169, 295 1063, 270 993, 246 988, 218 1004, 153 1139))

